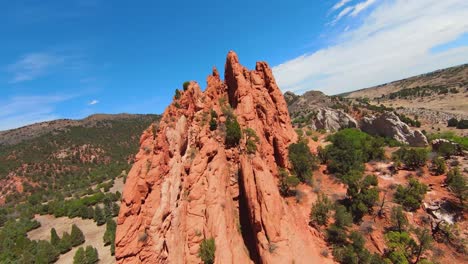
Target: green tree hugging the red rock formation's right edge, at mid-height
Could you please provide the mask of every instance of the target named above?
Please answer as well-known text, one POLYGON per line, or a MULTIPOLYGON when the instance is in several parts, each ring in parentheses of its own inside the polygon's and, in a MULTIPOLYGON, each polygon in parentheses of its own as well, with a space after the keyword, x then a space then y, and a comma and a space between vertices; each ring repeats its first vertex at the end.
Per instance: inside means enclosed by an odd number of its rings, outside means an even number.
POLYGON ((317 158, 310 152, 303 141, 291 144, 288 147, 289 160, 293 170, 302 182, 311 182, 312 171, 318 168, 317 158))

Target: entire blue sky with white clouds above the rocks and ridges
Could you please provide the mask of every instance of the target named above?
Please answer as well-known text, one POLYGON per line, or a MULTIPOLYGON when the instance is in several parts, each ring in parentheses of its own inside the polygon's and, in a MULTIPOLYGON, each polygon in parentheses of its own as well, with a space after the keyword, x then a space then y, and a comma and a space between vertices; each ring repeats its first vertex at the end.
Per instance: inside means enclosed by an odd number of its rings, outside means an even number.
POLYGON ((223 72, 229 50, 249 68, 267 61, 297 93, 466 63, 467 11, 464 0, 4 1, 0 130, 162 113, 184 81, 223 72))

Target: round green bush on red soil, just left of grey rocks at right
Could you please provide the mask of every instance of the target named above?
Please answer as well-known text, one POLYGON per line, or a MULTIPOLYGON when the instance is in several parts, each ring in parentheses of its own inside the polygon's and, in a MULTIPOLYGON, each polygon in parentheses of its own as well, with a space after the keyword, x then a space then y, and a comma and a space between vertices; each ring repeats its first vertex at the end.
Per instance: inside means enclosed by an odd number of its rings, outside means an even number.
POLYGON ((394 200, 403 205, 406 210, 415 211, 420 207, 426 192, 427 185, 420 183, 414 178, 410 178, 407 187, 398 185, 394 200))

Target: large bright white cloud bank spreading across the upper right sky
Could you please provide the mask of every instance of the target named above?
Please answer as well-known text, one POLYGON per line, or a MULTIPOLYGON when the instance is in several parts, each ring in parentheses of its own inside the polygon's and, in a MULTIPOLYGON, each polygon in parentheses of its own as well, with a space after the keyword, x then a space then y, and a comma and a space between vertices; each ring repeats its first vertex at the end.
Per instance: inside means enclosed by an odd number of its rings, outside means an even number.
POLYGON ((468 44, 438 53, 431 49, 467 33, 466 14, 465 0, 380 1, 360 26, 341 33, 337 44, 273 71, 283 91, 336 94, 463 64, 468 44))

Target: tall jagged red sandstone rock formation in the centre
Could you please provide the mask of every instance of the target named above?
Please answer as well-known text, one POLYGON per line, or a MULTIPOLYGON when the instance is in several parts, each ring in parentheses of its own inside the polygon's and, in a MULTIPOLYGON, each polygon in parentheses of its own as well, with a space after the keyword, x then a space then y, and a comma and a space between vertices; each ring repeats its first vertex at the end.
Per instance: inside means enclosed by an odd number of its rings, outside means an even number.
POLYGON ((277 187, 296 141, 272 71, 249 71, 230 52, 223 82, 216 69, 205 92, 191 82, 148 128, 123 192, 116 235, 118 263, 201 263, 204 238, 214 238, 215 263, 326 263, 308 220, 277 187), (226 115, 259 137, 255 154, 243 138, 225 145, 226 115), (209 128, 210 111, 218 128, 209 128))

